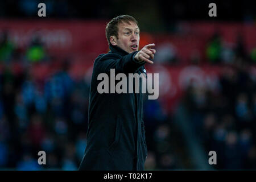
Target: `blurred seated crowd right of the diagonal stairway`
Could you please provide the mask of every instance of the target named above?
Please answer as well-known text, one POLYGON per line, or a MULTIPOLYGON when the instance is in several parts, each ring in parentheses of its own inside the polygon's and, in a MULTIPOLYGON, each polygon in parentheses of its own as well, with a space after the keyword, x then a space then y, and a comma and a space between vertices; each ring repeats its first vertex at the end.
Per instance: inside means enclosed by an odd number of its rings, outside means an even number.
POLYGON ((216 151, 216 169, 256 168, 256 80, 242 62, 224 68, 219 87, 188 87, 183 104, 205 151, 216 151))

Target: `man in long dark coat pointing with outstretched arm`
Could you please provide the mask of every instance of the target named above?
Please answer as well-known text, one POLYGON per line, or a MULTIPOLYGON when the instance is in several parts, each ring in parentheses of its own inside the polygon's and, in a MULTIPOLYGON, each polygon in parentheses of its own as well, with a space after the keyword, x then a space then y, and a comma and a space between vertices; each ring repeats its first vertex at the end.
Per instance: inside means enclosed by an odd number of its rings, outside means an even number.
MULTIPOLYGON (((94 61, 89 99, 87 145, 80 170, 143 170, 147 156, 143 94, 98 93, 100 73, 145 73, 153 62, 154 44, 139 48, 138 22, 132 16, 113 18, 106 26, 110 52, 94 61)), ((109 85, 111 86, 111 85, 109 85)))

